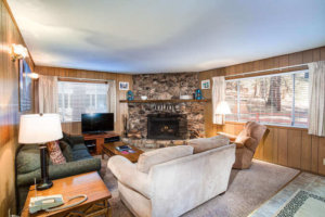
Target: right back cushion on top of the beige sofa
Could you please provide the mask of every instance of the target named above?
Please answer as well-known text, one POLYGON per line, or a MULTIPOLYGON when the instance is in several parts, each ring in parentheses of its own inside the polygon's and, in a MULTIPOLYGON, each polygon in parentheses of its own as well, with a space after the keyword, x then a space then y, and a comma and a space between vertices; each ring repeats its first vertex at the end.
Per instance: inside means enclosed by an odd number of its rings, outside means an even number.
POLYGON ((224 136, 216 136, 211 138, 192 139, 187 142, 188 145, 194 148, 194 154, 205 152, 211 149, 229 144, 230 139, 224 136))

